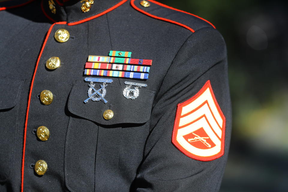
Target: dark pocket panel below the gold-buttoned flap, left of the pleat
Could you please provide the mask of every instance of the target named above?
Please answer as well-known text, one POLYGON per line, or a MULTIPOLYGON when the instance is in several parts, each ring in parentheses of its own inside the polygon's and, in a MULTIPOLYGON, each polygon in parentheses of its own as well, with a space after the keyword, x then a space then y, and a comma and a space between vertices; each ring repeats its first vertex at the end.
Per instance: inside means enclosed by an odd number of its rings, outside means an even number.
POLYGON ((97 136, 98 126, 93 122, 70 117, 64 156, 65 183, 70 191, 94 190, 97 136))

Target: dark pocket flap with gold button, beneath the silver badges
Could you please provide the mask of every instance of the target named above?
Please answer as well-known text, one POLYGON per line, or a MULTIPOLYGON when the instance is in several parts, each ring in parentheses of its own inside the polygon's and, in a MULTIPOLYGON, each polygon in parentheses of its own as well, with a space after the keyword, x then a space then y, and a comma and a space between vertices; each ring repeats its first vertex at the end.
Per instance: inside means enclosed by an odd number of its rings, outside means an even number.
MULTIPOLYGON (((99 89, 101 83, 95 83, 99 89)), ((68 101, 68 110, 76 116, 89 119, 102 125, 114 125, 121 123, 145 123, 150 119, 152 103, 155 91, 139 88, 139 96, 132 100, 123 96, 126 85, 107 84, 105 99, 103 101, 92 101, 84 103, 88 98, 89 83, 76 83, 73 85, 68 101), (112 110, 114 116, 110 120, 103 117, 106 110, 112 110)), ((92 91, 93 92, 93 91, 92 91)))

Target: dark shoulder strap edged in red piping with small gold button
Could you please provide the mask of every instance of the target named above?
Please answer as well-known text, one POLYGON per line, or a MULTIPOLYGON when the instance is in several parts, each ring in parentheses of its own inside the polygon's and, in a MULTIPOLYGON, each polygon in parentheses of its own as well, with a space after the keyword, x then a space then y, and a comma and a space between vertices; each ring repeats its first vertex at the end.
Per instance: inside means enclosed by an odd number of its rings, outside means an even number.
POLYGON ((154 0, 148 0, 146 2, 142 0, 131 0, 131 5, 134 7, 134 9, 140 11, 141 13, 144 13, 155 19, 160 19, 182 26, 191 32, 195 32, 196 30, 203 27, 215 28, 211 22, 199 16, 188 13, 186 11, 175 9, 173 7, 169 7, 154 0))

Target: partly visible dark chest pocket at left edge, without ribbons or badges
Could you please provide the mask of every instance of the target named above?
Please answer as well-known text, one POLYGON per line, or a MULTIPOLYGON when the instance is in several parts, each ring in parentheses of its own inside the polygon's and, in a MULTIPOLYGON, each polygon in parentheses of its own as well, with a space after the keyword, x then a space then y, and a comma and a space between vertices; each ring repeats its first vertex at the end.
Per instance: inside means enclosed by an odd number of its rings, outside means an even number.
POLYGON ((19 98, 23 81, 0 79, 0 182, 10 175, 13 151, 18 141, 17 127, 19 98))

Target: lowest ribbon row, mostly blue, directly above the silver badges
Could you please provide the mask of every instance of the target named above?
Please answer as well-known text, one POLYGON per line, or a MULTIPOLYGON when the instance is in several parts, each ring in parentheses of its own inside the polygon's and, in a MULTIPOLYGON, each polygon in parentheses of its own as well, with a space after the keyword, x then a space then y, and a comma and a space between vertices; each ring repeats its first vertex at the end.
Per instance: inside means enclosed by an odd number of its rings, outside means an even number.
POLYGON ((98 69, 85 69, 84 75, 126 77, 126 78, 134 78, 134 79, 148 79, 148 73, 110 71, 110 70, 98 70, 98 69))

